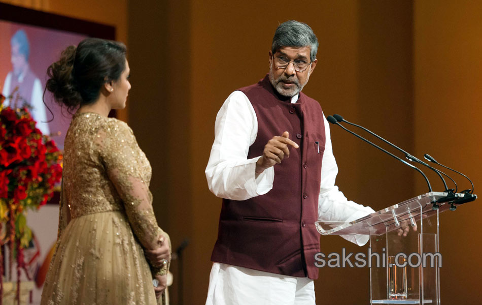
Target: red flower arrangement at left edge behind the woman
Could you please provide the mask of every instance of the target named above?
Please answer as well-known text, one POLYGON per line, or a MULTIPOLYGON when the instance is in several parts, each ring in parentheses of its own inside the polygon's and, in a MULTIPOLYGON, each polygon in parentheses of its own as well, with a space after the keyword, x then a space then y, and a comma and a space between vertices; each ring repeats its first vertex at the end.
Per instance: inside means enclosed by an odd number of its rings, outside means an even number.
MULTIPOLYGON (((24 211, 39 209, 52 198, 62 177, 62 155, 55 142, 35 127, 27 107, 4 107, 5 99, 0 94, 0 246, 10 248, 9 278, 16 256, 19 282, 20 269, 25 268, 22 249, 32 238, 24 211)), ((0 304, 3 262, 0 252, 0 304)))

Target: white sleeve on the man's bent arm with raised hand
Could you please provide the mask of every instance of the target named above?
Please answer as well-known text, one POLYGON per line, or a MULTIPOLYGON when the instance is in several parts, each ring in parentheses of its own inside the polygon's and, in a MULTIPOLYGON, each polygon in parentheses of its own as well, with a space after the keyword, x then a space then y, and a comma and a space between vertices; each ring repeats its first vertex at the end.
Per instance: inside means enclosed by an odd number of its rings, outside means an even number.
POLYGON ((273 187, 274 169, 256 178, 256 161, 248 159, 258 134, 258 120, 248 97, 233 92, 216 116, 215 139, 205 174, 211 192, 218 197, 246 200, 266 194, 273 187))

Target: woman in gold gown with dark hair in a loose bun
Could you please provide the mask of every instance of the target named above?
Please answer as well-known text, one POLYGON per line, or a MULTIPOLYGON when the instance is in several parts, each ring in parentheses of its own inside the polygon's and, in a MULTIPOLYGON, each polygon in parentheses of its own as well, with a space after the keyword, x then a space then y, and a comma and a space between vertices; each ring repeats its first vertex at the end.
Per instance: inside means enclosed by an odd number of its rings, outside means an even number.
POLYGON ((170 242, 154 217, 151 166, 127 124, 108 117, 125 107, 130 89, 125 52, 121 43, 88 38, 47 70, 46 89, 78 110, 65 136, 58 239, 42 305, 156 304, 166 287, 170 242))

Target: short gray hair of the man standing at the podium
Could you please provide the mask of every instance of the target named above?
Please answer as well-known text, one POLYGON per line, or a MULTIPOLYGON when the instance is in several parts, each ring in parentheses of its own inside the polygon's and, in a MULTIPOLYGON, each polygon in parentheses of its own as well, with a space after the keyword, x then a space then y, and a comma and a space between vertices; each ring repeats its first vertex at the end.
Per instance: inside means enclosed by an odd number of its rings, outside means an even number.
POLYGON ((283 22, 273 36, 271 52, 274 54, 282 47, 309 47, 309 58, 316 59, 318 39, 309 25, 296 20, 283 22))

